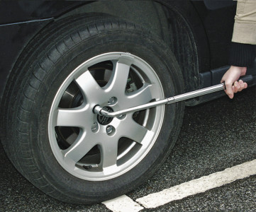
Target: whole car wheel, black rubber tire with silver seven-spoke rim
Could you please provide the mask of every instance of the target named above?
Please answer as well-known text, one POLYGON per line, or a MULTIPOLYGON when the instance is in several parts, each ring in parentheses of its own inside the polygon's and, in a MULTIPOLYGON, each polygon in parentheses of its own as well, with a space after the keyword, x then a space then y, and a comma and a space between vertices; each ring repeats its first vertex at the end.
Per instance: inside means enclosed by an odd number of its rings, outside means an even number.
POLYGON ((98 203, 130 192, 160 167, 184 103, 113 119, 93 107, 121 110, 183 89, 174 55, 143 28, 106 16, 57 20, 16 63, 1 140, 13 165, 45 194, 98 203))

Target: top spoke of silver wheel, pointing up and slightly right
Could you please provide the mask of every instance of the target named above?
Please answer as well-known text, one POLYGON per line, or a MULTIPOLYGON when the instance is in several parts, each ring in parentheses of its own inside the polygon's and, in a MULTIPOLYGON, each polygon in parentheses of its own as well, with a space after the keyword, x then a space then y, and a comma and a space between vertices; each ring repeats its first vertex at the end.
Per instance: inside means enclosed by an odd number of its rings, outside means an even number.
POLYGON ((130 64, 131 61, 129 61, 129 59, 119 59, 118 61, 114 62, 112 76, 104 87, 104 90, 106 90, 106 92, 111 91, 111 93, 115 93, 115 95, 117 95, 118 93, 124 95, 128 80, 128 74, 130 71, 130 64))

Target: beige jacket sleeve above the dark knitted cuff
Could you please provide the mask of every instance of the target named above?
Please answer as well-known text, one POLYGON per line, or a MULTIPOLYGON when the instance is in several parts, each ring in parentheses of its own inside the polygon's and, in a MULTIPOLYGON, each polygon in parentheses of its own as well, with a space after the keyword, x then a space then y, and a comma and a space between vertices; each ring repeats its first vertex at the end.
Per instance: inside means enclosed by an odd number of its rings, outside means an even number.
POLYGON ((232 41, 256 45, 256 0, 238 0, 232 41))

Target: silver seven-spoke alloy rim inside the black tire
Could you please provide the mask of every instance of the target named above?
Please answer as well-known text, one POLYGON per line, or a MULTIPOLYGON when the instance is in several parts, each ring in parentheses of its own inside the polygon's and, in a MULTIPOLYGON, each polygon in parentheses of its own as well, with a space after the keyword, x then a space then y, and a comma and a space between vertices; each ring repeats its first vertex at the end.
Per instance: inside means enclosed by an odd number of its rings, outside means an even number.
POLYGON ((50 108, 48 136, 57 162, 90 181, 112 179, 140 163, 154 145, 165 107, 107 119, 95 105, 116 111, 165 98, 160 79, 140 57, 110 52, 78 66, 50 108))

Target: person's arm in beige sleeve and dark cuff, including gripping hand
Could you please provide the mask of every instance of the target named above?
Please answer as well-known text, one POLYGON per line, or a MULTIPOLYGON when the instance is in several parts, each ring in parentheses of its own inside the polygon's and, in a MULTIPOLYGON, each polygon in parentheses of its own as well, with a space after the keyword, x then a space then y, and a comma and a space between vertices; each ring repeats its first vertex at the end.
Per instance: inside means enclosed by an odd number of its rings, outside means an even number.
POLYGON ((233 98, 234 93, 247 88, 247 83, 237 80, 245 75, 247 67, 255 60, 255 45, 256 1, 238 0, 230 47, 230 69, 221 79, 226 83, 225 91, 229 98, 233 98))

